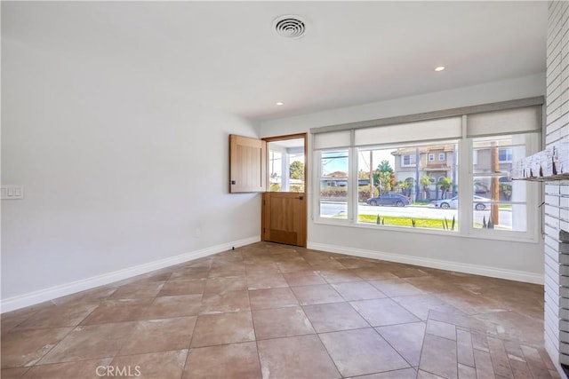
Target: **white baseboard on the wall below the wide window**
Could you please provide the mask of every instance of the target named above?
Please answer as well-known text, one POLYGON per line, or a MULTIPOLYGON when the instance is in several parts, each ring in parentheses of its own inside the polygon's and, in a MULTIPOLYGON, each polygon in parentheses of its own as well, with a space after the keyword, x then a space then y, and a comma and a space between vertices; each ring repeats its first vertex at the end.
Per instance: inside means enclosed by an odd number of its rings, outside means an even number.
POLYGON ((420 265, 424 267, 437 268, 454 272, 473 273, 476 275, 490 276, 493 278, 501 278, 507 280, 525 281, 527 283, 543 284, 543 275, 535 272, 523 272, 485 265, 469 265, 459 262, 443 261, 439 259, 431 259, 424 257, 404 256, 401 254, 384 253, 375 250, 354 249, 337 245, 328 245, 325 243, 310 242, 309 249, 328 251, 331 253, 345 254, 347 256, 365 257, 373 259, 381 259, 389 262, 397 262, 407 265, 420 265))

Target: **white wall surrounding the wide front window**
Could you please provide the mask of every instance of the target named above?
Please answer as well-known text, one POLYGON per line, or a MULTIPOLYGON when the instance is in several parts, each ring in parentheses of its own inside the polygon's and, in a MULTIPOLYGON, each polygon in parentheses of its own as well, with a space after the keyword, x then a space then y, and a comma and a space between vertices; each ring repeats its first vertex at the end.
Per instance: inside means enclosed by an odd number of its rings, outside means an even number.
MULTIPOLYGON (((262 137, 308 131, 345 122, 373 120, 453 107, 466 107, 545 94, 545 74, 497 83, 441 91, 405 99, 333 109, 285 119, 261 122, 262 137)), ((312 151, 309 151, 309 159, 312 151)), ((314 162, 309 161, 309 178, 314 162)), ((480 240, 428 233, 381 231, 373 228, 316 224, 313 221, 312 188, 309 187, 309 247, 365 257, 475 272, 514 280, 542 282, 543 242, 480 240)), ((533 204, 535 208, 539 204, 533 204)), ((539 211, 536 212, 539 217, 539 211)), ((541 231, 540 231, 541 232, 541 231)))

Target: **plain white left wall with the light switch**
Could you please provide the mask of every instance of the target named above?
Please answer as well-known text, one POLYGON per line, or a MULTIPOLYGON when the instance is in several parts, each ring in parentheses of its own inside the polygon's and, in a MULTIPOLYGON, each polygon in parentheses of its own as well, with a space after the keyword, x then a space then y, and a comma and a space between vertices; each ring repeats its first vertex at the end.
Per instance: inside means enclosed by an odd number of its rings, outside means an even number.
POLYGON ((255 137, 256 125, 135 67, 2 44, 2 183, 25 187, 2 201, 7 308, 259 240, 260 196, 228 193, 228 134, 255 137))

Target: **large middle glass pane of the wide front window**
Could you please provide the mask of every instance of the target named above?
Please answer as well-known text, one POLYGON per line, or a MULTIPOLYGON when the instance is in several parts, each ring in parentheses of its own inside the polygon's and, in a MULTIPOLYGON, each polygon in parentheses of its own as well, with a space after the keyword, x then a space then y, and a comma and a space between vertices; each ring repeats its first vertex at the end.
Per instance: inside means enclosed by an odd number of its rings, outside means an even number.
POLYGON ((431 230, 448 229, 456 232, 458 210, 442 209, 437 201, 456 195, 458 168, 445 171, 445 176, 454 178, 447 186, 436 186, 436 177, 429 174, 429 167, 425 164, 425 156, 432 156, 433 160, 436 157, 436 154, 429 153, 429 150, 436 146, 458 151, 456 140, 437 141, 429 145, 358 148, 358 176, 370 178, 371 173, 373 187, 360 187, 358 190, 357 223, 431 230), (415 154, 409 154, 410 152, 415 154), (409 170, 399 170, 396 164, 398 156, 417 155, 422 159, 419 160, 418 167, 413 169, 413 176, 409 176, 409 170))

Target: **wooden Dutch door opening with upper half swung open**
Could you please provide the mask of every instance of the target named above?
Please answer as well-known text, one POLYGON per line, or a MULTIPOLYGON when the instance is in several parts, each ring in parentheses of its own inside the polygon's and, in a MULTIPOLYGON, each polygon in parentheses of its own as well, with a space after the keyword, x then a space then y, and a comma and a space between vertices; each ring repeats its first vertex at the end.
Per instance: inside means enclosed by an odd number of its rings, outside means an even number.
POLYGON ((267 192, 263 193, 262 241, 306 247, 306 134, 267 142, 267 192))

